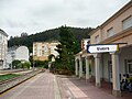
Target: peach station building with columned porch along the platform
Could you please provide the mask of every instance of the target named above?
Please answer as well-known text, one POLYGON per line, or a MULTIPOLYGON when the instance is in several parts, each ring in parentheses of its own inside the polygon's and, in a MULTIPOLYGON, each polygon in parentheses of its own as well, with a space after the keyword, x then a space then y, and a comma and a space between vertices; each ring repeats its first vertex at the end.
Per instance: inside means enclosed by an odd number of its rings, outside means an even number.
POLYGON ((121 96, 120 80, 123 74, 132 76, 132 1, 120 9, 90 33, 90 44, 116 44, 119 51, 112 53, 88 54, 81 52, 76 55, 76 75, 82 77, 81 58, 86 59, 86 79, 90 75, 96 79, 96 86, 101 86, 101 80, 112 82, 112 94, 121 96), (78 62, 77 62, 78 61, 78 62), (89 75, 89 64, 91 73, 89 75))

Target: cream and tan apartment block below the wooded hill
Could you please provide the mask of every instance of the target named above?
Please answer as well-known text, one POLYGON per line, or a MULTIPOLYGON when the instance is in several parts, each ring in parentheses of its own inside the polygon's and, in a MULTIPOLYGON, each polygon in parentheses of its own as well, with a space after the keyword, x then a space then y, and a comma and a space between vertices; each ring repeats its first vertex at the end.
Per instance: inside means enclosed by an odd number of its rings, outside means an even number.
POLYGON ((34 42, 33 43, 33 59, 34 61, 48 61, 48 56, 52 54, 55 57, 58 53, 55 51, 58 42, 34 42))

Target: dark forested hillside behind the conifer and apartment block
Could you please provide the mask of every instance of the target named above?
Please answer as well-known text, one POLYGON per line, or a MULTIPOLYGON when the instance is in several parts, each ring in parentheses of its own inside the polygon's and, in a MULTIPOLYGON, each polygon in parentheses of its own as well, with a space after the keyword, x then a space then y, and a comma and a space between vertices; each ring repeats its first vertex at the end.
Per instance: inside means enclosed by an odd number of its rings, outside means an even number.
MULTIPOLYGON (((78 43, 80 43, 81 38, 89 37, 88 33, 91 32, 92 30, 91 28, 80 29, 80 28, 69 28, 69 26, 67 29, 74 34, 78 43)), ((43 31, 36 34, 26 35, 26 36, 10 37, 10 40, 8 41, 8 44, 9 44, 8 46, 11 47, 15 45, 16 46, 25 45, 30 48, 30 52, 32 52, 33 42, 48 42, 48 41, 59 41, 59 28, 43 31)))

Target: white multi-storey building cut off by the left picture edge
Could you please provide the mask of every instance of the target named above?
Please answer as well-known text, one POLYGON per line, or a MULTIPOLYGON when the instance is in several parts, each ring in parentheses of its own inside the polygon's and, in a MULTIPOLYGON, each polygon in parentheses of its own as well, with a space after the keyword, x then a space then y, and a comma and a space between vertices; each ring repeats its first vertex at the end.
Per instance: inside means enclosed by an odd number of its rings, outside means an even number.
POLYGON ((0 69, 7 67, 6 65, 7 47, 8 47, 8 34, 0 29, 0 69))

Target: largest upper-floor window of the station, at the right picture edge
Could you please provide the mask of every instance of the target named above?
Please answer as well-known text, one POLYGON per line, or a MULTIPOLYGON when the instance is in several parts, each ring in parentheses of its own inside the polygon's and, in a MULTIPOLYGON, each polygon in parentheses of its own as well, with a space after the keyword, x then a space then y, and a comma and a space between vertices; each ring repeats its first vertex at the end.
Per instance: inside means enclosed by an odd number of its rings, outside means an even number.
POLYGON ((123 30, 127 30, 132 26, 132 15, 122 21, 123 30))

